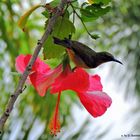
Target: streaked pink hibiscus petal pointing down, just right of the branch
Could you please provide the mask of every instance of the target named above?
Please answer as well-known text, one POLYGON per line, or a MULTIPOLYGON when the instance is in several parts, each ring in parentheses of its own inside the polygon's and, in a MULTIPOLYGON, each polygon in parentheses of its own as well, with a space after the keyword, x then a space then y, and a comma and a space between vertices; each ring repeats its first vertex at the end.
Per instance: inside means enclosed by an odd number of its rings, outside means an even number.
POLYGON ((30 80, 40 96, 44 96, 48 88, 58 77, 63 68, 59 65, 53 70, 46 71, 46 73, 35 72, 30 75, 30 80))

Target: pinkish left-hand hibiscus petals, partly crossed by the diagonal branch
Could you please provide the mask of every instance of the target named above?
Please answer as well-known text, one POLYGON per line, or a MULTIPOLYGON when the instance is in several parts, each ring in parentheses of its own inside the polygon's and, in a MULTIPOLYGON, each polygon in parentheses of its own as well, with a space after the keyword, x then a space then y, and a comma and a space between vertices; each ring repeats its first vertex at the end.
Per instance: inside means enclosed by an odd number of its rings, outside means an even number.
MULTIPOLYGON (((15 66, 18 72, 24 72, 30 58, 31 55, 19 55, 16 58, 15 66)), ((61 72, 62 65, 51 70, 47 64, 40 60, 40 58, 37 58, 28 77, 28 81, 30 81, 40 96, 44 96, 47 89, 61 72)))

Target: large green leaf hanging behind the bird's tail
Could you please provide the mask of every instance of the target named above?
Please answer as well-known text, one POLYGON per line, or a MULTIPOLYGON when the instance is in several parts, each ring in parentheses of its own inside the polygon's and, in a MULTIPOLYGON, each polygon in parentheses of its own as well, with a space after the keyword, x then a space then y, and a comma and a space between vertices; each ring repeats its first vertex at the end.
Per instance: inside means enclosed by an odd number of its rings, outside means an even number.
POLYGON ((43 49, 44 59, 61 57, 65 51, 63 47, 53 43, 53 36, 64 39, 68 38, 69 35, 73 33, 75 33, 73 23, 66 17, 59 17, 54 26, 52 34, 45 42, 43 49))

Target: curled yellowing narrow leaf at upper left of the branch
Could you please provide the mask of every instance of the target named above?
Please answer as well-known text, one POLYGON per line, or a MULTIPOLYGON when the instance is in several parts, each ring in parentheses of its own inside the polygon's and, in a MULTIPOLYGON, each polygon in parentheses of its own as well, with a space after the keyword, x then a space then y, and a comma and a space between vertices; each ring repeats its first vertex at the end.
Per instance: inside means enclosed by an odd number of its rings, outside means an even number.
POLYGON ((34 5, 33 7, 31 7, 31 9, 29 9, 24 15, 22 15, 18 21, 18 26, 19 28, 21 28, 23 31, 25 29, 25 25, 27 23, 27 20, 29 18, 29 16, 32 14, 32 12, 34 10, 36 10, 37 8, 41 7, 42 5, 40 4, 37 4, 37 5, 34 5))

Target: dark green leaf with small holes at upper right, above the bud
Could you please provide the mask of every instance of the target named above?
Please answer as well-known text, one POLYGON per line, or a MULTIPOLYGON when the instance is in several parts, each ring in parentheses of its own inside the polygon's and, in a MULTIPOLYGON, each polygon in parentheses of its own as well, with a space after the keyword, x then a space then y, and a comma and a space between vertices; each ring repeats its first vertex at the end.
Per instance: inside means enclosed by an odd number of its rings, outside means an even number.
POLYGON ((88 5, 82 9, 80 9, 81 18, 85 22, 91 22, 91 21, 96 20, 97 18, 103 16, 104 14, 109 12, 109 10, 110 10, 110 6, 101 7, 101 4, 88 5))

